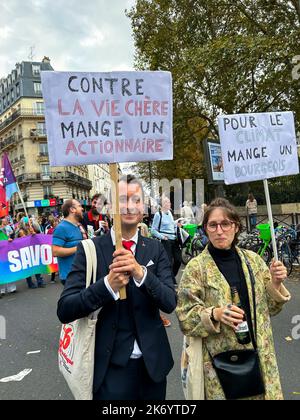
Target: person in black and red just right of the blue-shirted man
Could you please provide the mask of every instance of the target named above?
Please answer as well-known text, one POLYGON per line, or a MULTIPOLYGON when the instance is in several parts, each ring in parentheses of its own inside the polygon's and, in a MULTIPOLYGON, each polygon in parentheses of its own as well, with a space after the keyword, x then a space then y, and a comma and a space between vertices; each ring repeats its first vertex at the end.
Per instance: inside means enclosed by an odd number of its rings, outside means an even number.
POLYGON ((102 194, 95 194, 92 197, 91 210, 83 215, 83 226, 86 231, 92 231, 95 236, 101 233, 108 233, 110 226, 108 219, 102 214, 103 207, 106 204, 106 198, 102 194), (90 227, 89 227, 90 226, 90 227))

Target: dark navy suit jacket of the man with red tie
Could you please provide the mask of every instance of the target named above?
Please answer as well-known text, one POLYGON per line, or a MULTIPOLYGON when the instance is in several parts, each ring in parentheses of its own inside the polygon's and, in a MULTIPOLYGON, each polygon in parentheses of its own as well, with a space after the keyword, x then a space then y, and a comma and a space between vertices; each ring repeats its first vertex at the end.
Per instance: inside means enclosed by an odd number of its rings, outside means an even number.
MULTIPOLYGON (((113 259, 111 235, 97 237, 93 241, 98 258, 97 281, 88 289, 85 288, 86 259, 80 244, 58 302, 57 315, 66 324, 102 308, 97 322, 95 346, 94 392, 97 392, 109 365, 118 326, 120 301, 113 299, 104 284, 104 277, 109 273, 113 259)), ((130 287, 136 333, 145 366, 151 379, 161 382, 174 365, 159 314, 159 310, 171 313, 176 307, 173 274, 163 246, 155 239, 139 235, 135 258, 140 265, 147 267, 147 277, 140 288, 131 279, 127 285, 127 296, 130 287)))

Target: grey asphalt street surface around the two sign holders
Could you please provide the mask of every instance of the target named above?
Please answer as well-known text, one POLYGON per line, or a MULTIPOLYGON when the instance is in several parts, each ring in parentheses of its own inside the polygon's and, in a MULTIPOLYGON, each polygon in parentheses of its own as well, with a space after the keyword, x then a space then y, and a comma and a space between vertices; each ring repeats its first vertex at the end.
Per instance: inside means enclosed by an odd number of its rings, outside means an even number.
MULTIPOLYGON (((60 323, 56 302, 61 286, 50 284, 45 289, 29 290, 25 282, 18 284, 16 294, 0 300, 0 315, 6 318, 7 339, 0 340, 0 380, 24 369, 32 371, 20 382, 0 382, 0 400, 68 400, 72 399, 57 368, 57 344, 60 323), (27 352, 39 351, 27 354, 27 352)), ((286 341, 292 336, 292 317, 299 314, 300 281, 289 280, 293 301, 276 318, 274 334, 285 398, 300 400, 300 340, 286 341)), ((179 359, 182 336, 176 317, 169 317, 168 335, 175 367, 168 378, 167 398, 181 400, 179 359)), ((299 329, 298 329, 299 330, 299 329)))

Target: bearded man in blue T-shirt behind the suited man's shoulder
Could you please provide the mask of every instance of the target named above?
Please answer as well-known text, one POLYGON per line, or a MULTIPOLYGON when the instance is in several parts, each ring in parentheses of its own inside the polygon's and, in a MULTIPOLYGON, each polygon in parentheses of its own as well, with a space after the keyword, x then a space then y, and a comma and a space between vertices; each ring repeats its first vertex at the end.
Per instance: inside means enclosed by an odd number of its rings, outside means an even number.
POLYGON ((83 208, 75 199, 66 200, 62 206, 64 219, 54 229, 52 252, 57 257, 59 277, 63 285, 71 270, 78 244, 86 239, 81 225, 83 208))

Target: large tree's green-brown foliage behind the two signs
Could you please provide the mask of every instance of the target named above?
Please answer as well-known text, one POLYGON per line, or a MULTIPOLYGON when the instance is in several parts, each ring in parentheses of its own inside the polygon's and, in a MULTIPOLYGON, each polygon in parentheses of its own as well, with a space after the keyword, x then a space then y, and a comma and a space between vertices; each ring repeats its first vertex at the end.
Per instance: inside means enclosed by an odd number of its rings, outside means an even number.
POLYGON ((174 161, 152 164, 153 175, 205 175, 201 142, 218 137, 220 113, 293 110, 300 121, 300 86, 292 78, 299 3, 137 0, 127 12, 136 68, 173 75, 174 161))

